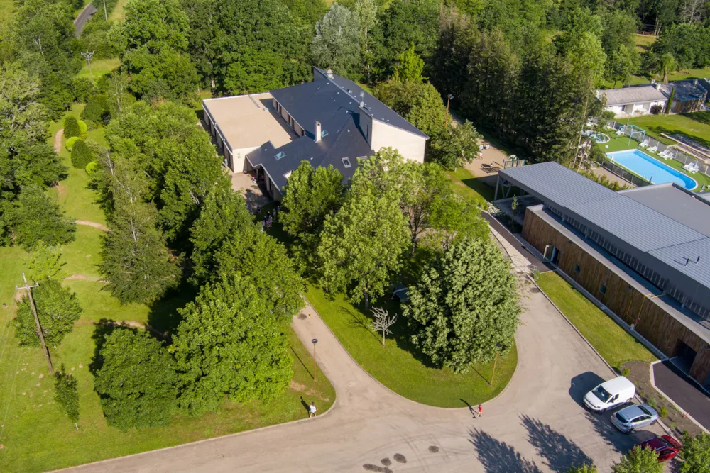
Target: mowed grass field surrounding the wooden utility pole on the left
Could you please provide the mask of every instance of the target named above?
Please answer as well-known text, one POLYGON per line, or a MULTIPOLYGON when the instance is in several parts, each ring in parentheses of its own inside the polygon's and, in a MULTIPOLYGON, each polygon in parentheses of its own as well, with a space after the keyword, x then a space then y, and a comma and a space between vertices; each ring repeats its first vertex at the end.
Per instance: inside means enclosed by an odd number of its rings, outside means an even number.
MULTIPOLYGON (((70 113, 80 113, 75 107, 70 113)), ((61 128, 55 123, 48 140, 61 128)), ((100 130, 99 130, 100 131, 100 130)), ((97 131, 97 133, 99 133, 97 131)), ((92 132, 94 133, 94 132, 92 132)), ((102 131, 100 132, 102 133, 102 131)), ((89 137, 92 134, 89 133, 89 137)), ((97 140, 98 134, 93 135, 97 140)), ((62 151, 67 163, 67 153, 62 151)), ((94 191, 85 187, 84 169, 70 167, 63 188, 50 189, 62 208, 75 218, 103 221, 94 191), (83 175, 82 175, 83 173, 83 175)), ((99 282, 102 230, 79 226, 76 240, 62 247, 62 285, 75 291, 83 313, 72 333, 50 347, 55 368, 62 365, 79 383, 79 429, 67 420, 54 401, 53 378, 39 348, 21 347, 14 337, 11 320, 17 301, 15 285, 26 271, 27 252, 19 247, 0 247, 0 472, 41 472, 122 455, 170 447, 218 435, 307 418, 303 401, 315 401, 321 413, 335 400, 331 384, 290 326, 288 335, 294 377, 284 394, 268 403, 238 404, 225 401, 214 413, 200 418, 176 414, 165 428, 121 432, 107 425, 93 388, 89 365, 94 359, 95 338, 102 319, 150 323, 170 330, 178 323, 176 308, 194 297, 190 290, 172 291, 156 304, 121 305, 99 282)), ((189 289, 189 288, 187 288, 189 289)), ((149 369, 147 367, 146 369, 149 369)))

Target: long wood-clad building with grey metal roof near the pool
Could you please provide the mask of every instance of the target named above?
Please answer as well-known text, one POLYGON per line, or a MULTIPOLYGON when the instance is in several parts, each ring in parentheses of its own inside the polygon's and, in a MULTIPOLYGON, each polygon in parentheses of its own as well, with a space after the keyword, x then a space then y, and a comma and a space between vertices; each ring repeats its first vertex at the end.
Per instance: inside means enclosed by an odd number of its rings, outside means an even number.
POLYGON ((545 260, 710 386, 708 201, 675 184, 615 192, 555 162, 498 179, 534 196, 522 236, 545 260))

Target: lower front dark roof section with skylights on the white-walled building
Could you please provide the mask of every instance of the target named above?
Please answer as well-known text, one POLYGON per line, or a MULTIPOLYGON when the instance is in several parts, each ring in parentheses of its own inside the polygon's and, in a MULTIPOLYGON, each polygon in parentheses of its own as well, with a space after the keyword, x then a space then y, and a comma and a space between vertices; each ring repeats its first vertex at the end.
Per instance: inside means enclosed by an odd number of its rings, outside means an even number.
POLYGON ((350 179, 357 167, 358 157, 369 157, 373 152, 367 141, 361 135, 351 116, 346 116, 342 128, 329 130, 326 137, 319 143, 309 136, 302 136, 280 148, 273 148, 266 143, 258 150, 246 155, 252 166, 261 165, 268 172, 279 189, 285 187, 288 181, 286 174, 295 170, 301 161, 309 161, 313 167, 333 165, 343 174, 343 182, 350 179), (275 155, 285 154, 280 160, 275 155), (345 167, 342 158, 349 158, 351 167, 345 167))

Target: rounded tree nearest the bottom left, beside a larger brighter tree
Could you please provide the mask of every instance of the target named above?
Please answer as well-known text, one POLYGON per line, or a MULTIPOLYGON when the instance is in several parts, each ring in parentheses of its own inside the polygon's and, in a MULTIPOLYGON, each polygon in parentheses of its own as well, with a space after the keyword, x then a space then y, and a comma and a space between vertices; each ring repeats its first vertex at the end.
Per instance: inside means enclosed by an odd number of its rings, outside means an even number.
POLYGON ((177 406, 178 375, 168 350, 143 330, 116 328, 100 344, 94 389, 107 423, 161 427, 177 406))

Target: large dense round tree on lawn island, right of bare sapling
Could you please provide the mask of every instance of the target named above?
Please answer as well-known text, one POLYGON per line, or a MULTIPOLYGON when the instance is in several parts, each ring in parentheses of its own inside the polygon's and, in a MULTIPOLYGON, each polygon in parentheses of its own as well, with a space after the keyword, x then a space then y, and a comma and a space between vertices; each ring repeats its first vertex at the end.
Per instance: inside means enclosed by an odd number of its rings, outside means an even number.
POLYGON ((464 238, 422 272, 403 306, 412 341, 436 366, 466 372, 513 345, 520 304, 510 263, 487 238, 464 238))

